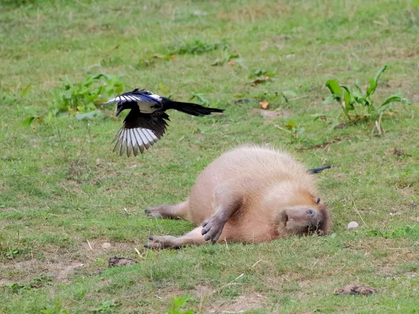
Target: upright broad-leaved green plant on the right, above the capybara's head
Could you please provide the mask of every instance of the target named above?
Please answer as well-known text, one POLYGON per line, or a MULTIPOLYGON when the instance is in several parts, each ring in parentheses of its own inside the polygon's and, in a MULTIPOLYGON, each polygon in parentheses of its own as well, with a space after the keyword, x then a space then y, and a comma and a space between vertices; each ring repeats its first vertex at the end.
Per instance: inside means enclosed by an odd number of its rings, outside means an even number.
POLYGON ((365 89, 365 92, 362 91, 358 82, 351 88, 348 85, 339 84, 337 80, 328 80, 325 86, 328 87, 331 94, 325 99, 325 104, 330 104, 334 100, 337 101, 349 122, 368 119, 370 116, 391 111, 391 104, 397 101, 402 102, 402 104, 410 104, 410 101, 403 98, 402 94, 392 95, 378 105, 372 99, 378 87, 378 79, 386 69, 387 66, 383 66, 377 71, 374 78, 369 80, 369 86, 365 89))

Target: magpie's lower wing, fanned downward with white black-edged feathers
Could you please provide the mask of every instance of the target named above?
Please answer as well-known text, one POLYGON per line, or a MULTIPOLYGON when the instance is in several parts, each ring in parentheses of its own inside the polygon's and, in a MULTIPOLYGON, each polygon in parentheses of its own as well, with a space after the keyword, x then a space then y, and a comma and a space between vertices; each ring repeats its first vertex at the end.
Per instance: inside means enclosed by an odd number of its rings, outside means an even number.
POLYGON ((131 109, 124 120, 124 127, 115 136, 114 142, 117 143, 113 151, 119 150, 120 156, 126 151, 128 157, 131 156, 131 152, 134 156, 138 155, 138 150, 143 153, 166 132, 166 120, 170 121, 166 113, 140 113, 131 109))

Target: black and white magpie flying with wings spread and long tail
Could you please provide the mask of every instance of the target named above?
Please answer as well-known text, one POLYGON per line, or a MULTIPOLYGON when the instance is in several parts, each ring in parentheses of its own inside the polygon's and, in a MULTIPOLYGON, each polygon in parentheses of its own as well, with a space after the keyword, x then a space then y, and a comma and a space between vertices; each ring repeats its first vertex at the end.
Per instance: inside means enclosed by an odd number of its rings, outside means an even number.
POLYGON ((131 109, 124 120, 124 126, 115 136, 114 152, 119 150, 119 155, 134 156, 138 150, 143 153, 148 150, 156 141, 163 136, 168 126, 166 121, 170 121, 166 110, 175 109, 188 113, 189 115, 210 115, 211 113, 222 113, 224 109, 207 108, 198 104, 183 103, 172 101, 166 97, 153 94, 149 90, 138 90, 126 92, 119 96, 98 104, 98 106, 117 104, 116 116, 122 110, 131 109))

